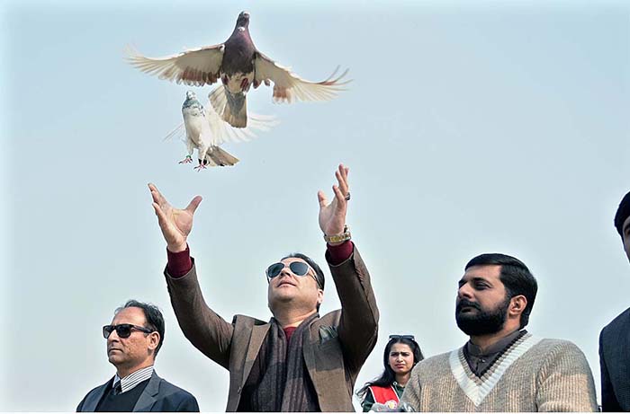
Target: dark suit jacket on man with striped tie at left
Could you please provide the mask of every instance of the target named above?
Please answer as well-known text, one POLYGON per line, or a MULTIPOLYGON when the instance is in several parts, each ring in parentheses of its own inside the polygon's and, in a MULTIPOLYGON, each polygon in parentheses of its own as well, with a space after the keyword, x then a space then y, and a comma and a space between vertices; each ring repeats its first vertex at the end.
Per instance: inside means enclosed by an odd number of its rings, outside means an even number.
MULTIPOLYGON (((76 412, 96 410, 98 401, 101 401, 103 394, 109 390, 110 383, 112 383, 112 380, 88 392, 83 401, 79 402, 76 412)), ((139 411, 199 412, 199 405, 193 394, 175 387, 172 383, 168 383, 153 371, 147 387, 140 394, 135 407, 133 407, 133 412, 139 411)))

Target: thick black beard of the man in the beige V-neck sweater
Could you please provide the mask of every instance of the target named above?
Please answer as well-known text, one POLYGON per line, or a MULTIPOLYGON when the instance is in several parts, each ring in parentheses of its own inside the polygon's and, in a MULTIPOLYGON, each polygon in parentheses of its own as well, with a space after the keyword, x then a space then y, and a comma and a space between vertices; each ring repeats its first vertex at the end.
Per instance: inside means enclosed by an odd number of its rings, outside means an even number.
POLYGON ((460 330, 468 336, 481 336, 497 333, 503 329, 508 319, 509 297, 491 311, 483 310, 479 304, 462 299, 455 307, 455 321, 460 330), (479 313, 461 313, 462 307, 471 306, 479 313))

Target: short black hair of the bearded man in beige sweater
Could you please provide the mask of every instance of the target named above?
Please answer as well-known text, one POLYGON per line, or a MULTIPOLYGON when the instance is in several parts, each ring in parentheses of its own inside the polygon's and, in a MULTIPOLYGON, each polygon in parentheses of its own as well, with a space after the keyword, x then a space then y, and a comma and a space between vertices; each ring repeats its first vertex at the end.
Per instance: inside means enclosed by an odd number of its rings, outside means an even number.
POLYGON ((520 315, 520 327, 523 329, 529 322, 529 314, 534 307, 534 301, 536 300, 536 292, 538 291, 538 284, 536 277, 532 275, 532 272, 527 269, 527 266, 522 261, 501 253, 485 253, 471 259, 464 270, 472 268, 473 266, 487 266, 487 265, 500 265, 499 278, 501 283, 505 286, 506 295, 508 299, 517 295, 524 295, 527 299, 527 306, 520 315))

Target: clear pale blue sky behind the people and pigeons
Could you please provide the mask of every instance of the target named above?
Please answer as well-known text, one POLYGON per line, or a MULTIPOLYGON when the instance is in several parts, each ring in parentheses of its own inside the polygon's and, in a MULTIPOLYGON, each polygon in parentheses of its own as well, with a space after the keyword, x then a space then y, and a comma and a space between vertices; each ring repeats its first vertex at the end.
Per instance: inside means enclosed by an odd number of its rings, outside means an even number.
MULTIPOLYGON (((357 388, 383 370, 390 333, 426 356, 464 344, 464 264, 499 251, 539 283, 528 330, 569 339, 599 392, 599 330, 630 305, 613 224, 630 189, 630 4, 512 2, 84 2, 1 6, 0 410, 70 411, 114 373, 103 324, 129 298, 166 317, 157 373, 225 410, 228 372, 184 339, 147 189, 175 206, 203 196, 189 239, 206 301, 268 319, 266 266, 290 251, 320 264, 317 190, 350 167, 348 225, 370 269, 380 337, 357 388), (328 103, 249 110, 281 120, 225 145, 232 168, 193 172, 189 87, 123 60, 226 40, 241 10, 267 56, 307 79, 341 65, 328 103)), ((193 88, 202 101, 211 87, 193 88)), ((326 271, 329 277, 328 270, 326 271)), ((338 308, 329 277, 321 312, 338 308)), ((599 400, 598 393, 598 400, 599 400)), ((358 404, 356 404, 358 407, 358 404)))

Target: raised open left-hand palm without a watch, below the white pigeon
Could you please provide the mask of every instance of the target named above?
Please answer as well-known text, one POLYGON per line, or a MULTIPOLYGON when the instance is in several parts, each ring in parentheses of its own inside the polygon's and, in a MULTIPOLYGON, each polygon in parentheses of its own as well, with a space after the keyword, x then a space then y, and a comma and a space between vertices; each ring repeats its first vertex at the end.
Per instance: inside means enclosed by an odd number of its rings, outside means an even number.
POLYGON ((148 184, 153 198, 153 209, 156 211, 157 223, 162 230, 166 249, 174 253, 186 250, 188 234, 193 230, 194 210, 202 202, 201 196, 196 196, 183 210, 173 208, 166 198, 157 190, 154 184, 148 184))

